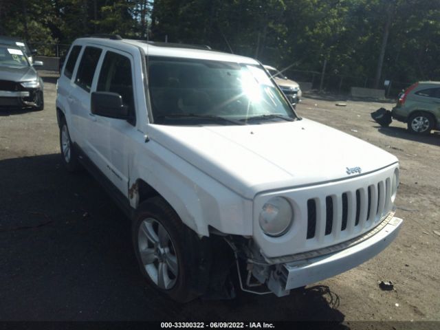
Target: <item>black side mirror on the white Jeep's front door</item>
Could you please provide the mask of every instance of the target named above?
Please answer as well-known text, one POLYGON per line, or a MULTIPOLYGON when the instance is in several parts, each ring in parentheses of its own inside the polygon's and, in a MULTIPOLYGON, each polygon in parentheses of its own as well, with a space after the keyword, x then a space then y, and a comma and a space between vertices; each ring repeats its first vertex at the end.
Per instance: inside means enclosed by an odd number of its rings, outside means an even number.
POLYGON ((91 94, 91 113, 102 117, 129 120, 129 107, 122 103, 122 96, 109 91, 94 91, 91 94))

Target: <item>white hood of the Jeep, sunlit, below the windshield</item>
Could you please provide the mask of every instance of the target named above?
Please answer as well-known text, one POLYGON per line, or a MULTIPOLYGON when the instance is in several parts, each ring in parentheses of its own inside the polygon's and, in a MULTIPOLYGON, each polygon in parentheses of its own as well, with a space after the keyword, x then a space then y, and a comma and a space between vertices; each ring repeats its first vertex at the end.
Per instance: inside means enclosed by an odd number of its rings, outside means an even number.
POLYGON ((248 199, 258 192, 353 177, 397 162, 381 148, 303 119, 243 126, 151 125, 151 140, 248 199))

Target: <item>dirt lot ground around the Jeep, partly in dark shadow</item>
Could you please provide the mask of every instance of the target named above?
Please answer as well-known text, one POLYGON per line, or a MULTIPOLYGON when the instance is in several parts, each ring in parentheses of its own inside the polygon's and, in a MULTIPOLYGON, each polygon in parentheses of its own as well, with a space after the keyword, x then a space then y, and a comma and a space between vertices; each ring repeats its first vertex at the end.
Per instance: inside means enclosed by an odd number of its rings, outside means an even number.
MULTIPOLYGON (((178 305, 142 281, 130 225, 87 173, 69 175, 58 154, 54 78, 41 112, 0 112, 0 320, 333 320, 354 329, 440 323, 440 134, 383 129, 369 113, 391 103, 305 98, 304 117, 395 154, 401 162, 400 235, 382 254, 291 296, 238 293, 232 301, 178 305), (393 281, 384 292, 378 281, 393 281), (362 323, 358 320, 399 320, 362 323), (414 321, 415 323, 410 323, 414 321)), ((344 146, 341 146, 343 148, 344 146)), ((324 159, 325 160, 325 159, 324 159)), ((329 159, 330 161, 330 159, 329 159)))

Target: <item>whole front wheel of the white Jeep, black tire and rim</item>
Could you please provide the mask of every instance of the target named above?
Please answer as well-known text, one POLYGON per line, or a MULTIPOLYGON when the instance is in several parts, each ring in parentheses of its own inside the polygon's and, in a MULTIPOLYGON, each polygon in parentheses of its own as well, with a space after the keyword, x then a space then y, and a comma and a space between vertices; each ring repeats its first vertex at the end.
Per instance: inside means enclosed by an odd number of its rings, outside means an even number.
POLYGON ((206 241, 186 227, 162 197, 140 204, 132 237, 142 275, 155 289, 179 303, 204 293, 210 260, 206 241))

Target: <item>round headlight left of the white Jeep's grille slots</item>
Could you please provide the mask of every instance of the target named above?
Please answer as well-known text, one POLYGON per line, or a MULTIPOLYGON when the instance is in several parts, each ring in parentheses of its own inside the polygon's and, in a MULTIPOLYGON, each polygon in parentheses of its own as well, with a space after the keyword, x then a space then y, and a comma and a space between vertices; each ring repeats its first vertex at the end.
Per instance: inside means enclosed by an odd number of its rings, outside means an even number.
POLYGON ((260 212, 260 227, 268 236, 281 236, 289 230, 294 221, 290 203, 283 197, 273 197, 263 205, 260 212))

